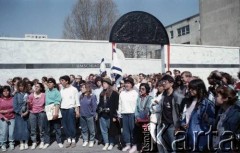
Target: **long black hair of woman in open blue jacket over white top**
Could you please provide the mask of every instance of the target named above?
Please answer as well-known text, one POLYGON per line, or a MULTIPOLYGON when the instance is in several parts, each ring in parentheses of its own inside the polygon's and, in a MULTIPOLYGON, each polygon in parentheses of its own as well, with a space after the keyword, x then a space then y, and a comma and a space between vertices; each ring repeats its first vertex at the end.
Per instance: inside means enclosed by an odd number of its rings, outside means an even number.
POLYGON ((189 90, 193 89, 197 91, 197 99, 198 101, 202 101, 204 98, 207 97, 207 89, 206 86, 201 79, 194 79, 189 82, 188 85, 189 90))

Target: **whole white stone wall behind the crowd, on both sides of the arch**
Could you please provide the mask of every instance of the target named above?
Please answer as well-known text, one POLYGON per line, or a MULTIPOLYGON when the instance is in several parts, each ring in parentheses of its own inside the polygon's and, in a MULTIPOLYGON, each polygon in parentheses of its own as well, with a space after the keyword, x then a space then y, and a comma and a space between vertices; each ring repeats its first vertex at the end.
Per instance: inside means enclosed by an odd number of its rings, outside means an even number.
MULTIPOLYGON (((167 49, 164 50, 167 63, 167 49)), ((160 59, 125 59, 119 49, 117 49, 117 53, 123 73, 162 72, 160 59)), ((99 74, 99 68, 7 69, 1 68, 2 64, 99 64, 102 58, 105 58, 105 63, 112 63, 112 44, 107 41, 0 38, 0 84, 5 84, 8 78, 14 76, 29 77, 30 79, 53 76, 58 79, 66 74, 80 74, 84 78, 90 73, 99 74)), ((240 68, 239 59, 239 48, 237 47, 182 44, 172 44, 170 47, 170 65, 173 66, 170 67, 170 70, 191 71, 193 75, 201 77, 206 83, 207 76, 216 69, 236 76, 240 68), (207 67, 194 67, 199 64, 206 64, 207 67), (216 67, 216 64, 220 67, 216 67), (235 65, 235 68, 221 66, 229 66, 229 64, 235 65)), ((109 73, 110 68, 107 71, 109 73)))

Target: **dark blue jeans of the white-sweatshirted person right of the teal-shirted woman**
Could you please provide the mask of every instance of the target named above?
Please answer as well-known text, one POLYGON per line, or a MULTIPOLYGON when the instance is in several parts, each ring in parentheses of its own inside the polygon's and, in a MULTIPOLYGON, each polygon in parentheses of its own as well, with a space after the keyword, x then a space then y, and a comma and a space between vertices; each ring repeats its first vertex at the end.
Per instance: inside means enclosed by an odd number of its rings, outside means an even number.
POLYGON ((76 113, 74 108, 61 109, 62 126, 66 138, 76 138, 76 113))

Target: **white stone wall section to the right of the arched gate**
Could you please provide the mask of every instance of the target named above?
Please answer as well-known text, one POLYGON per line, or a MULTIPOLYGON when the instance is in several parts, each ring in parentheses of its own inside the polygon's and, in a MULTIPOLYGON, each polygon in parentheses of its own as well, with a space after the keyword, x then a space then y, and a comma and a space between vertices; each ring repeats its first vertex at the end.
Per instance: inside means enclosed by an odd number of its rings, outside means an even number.
MULTIPOLYGON (((170 67, 170 70, 190 71, 194 76, 202 78, 205 83, 207 83, 207 76, 213 70, 227 72, 237 78, 237 72, 240 70, 239 54, 238 47, 172 44, 170 65, 172 64, 174 67, 170 67), (231 64, 235 67, 231 67, 231 64), (199 65, 206 67, 197 67, 199 65)), ((167 61, 167 49, 165 49, 165 55, 165 61, 167 61)))

